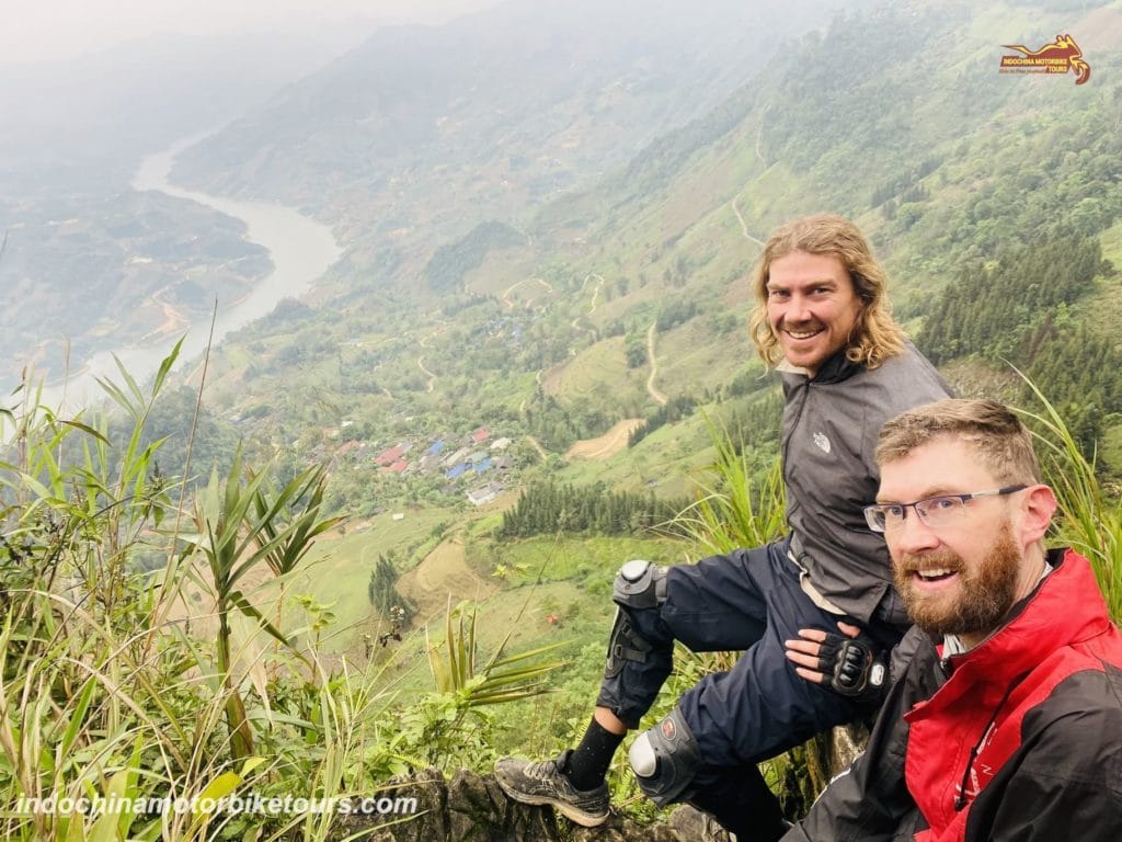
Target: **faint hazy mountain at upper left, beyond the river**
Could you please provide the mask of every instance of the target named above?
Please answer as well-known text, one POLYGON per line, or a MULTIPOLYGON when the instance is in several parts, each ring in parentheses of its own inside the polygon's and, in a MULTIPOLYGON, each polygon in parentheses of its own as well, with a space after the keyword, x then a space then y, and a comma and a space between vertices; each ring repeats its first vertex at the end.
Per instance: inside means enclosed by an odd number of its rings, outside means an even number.
MULTIPOLYGON (((122 167, 215 128, 347 49, 352 31, 158 35, 64 61, 2 63, 0 184, 24 189, 54 167, 122 167)), ((91 174, 91 177, 93 174, 91 174)))

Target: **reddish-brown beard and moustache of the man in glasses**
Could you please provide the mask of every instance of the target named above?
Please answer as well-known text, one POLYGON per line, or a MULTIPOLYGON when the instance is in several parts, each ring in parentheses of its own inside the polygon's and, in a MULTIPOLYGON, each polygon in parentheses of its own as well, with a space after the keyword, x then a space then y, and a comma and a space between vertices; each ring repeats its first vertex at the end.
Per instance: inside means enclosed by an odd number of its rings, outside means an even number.
POLYGON ((904 555, 893 565, 896 589, 912 622, 932 638, 944 634, 988 632, 1013 607, 1021 567, 1021 550, 1009 521, 994 539, 976 574, 968 574, 960 556, 949 550, 921 556, 904 555), (957 593, 925 594, 914 585, 914 570, 947 568, 958 573, 957 593))

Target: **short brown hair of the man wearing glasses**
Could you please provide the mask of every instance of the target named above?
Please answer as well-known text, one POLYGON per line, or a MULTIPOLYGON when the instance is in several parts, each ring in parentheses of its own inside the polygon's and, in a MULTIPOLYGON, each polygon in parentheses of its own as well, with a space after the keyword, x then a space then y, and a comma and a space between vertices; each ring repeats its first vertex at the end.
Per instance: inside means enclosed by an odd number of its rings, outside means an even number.
POLYGON ((1002 485, 1040 483, 1040 464, 1032 436, 1004 404, 996 401, 947 399, 903 412, 881 428, 876 464, 902 459, 940 436, 965 440, 1002 485))

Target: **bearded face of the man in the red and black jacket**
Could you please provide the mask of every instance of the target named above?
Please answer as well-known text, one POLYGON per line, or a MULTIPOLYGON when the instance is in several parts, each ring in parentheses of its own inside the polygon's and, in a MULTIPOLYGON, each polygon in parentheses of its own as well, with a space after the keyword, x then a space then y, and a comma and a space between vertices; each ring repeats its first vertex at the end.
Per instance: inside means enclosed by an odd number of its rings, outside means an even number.
MULTIPOLYGON (((876 498, 912 503, 999 485, 966 442, 941 436, 882 465, 876 498)), ((969 500, 938 529, 908 510, 903 522, 884 533, 896 588, 917 625, 932 637, 957 634, 973 647, 1001 624, 1043 570, 1037 542, 1047 515, 1040 521, 1034 511, 1041 495, 1050 492, 1038 485, 969 500)))

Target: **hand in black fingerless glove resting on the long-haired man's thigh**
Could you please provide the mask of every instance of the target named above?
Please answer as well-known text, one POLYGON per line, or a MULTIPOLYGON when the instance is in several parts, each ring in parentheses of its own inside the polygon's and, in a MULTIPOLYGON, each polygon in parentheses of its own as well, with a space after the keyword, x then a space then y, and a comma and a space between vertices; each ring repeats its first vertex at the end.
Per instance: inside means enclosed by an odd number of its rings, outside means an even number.
POLYGON ((842 634, 800 629, 799 640, 784 641, 794 671, 843 696, 879 698, 888 685, 888 651, 877 651, 861 629, 838 623, 842 634), (843 637, 845 635, 845 637, 843 637))

